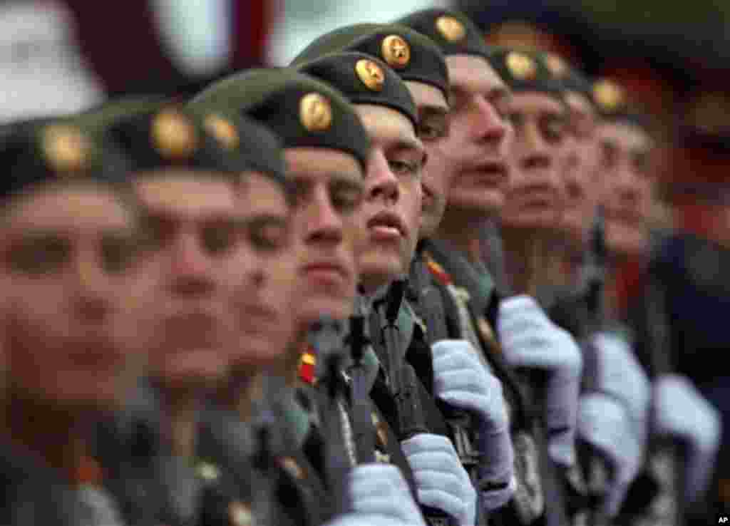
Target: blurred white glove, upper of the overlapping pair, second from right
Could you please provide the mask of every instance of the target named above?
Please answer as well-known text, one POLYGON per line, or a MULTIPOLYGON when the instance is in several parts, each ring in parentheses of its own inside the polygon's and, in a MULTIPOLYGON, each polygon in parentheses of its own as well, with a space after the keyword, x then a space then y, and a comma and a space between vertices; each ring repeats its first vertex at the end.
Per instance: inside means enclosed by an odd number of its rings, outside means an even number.
POLYGON ((639 444, 648 435, 651 384, 629 344, 615 333, 598 333, 593 338, 596 349, 596 387, 626 403, 634 422, 639 444))

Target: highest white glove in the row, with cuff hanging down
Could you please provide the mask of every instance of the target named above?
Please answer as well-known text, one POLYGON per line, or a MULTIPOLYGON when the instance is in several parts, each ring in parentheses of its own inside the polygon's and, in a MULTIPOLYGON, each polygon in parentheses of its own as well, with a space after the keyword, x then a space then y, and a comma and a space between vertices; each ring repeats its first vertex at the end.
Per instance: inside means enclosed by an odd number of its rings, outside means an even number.
POLYGON ((558 464, 575 463, 575 426, 583 355, 575 340, 550 321, 526 295, 499 304, 497 330, 507 362, 513 367, 544 371, 548 452, 558 464))

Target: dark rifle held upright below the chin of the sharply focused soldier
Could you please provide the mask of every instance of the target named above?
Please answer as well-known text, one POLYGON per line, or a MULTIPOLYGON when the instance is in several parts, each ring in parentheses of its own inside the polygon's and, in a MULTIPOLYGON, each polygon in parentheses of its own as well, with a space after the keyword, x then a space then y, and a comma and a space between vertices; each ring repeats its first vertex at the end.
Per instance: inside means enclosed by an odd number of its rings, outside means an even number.
MULTIPOLYGON (((377 302, 376 310, 383 333, 383 343, 388 355, 388 378, 398 414, 399 440, 407 440, 420 433, 428 433, 420 406, 418 384, 415 371, 405 362, 405 352, 401 349, 398 312, 403 301, 406 282, 402 279, 391 284, 388 294, 377 302)), ((423 514, 434 525, 457 525, 455 518, 443 511, 423 506, 423 514)))

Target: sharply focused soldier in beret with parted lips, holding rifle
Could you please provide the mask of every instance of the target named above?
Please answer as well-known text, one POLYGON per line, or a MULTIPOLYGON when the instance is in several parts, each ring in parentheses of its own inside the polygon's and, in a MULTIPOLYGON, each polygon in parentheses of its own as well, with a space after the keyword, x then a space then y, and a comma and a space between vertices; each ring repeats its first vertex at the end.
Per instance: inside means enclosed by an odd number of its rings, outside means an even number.
MULTIPOLYGON (((416 394, 419 386, 410 373, 412 365, 403 362, 410 336, 399 331, 398 339, 390 343, 386 336, 386 327, 396 320, 386 319, 385 312, 396 313, 402 305, 403 280, 415 253, 420 223, 420 174, 425 157, 423 146, 415 136, 417 119, 412 97, 395 71, 377 58, 361 53, 323 55, 302 63, 299 69, 342 90, 358 108, 374 142, 374 155, 366 177, 366 242, 358 259, 361 287, 376 306, 376 312, 369 318, 370 333, 374 348, 380 351, 378 357, 385 373, 374 384, 374 398, 399 435, 414 471, 418 498, 426 506, 426 517, 431 519, 434 514, 445 512, 459 524, 470 524, 475 520, 476 492, 453 444, 445 436, 429 433, 433 428, 426 425, 422 411, 404 416, 407 411, 401 406, 404 392, 413 390, 413 396, 421 397, 416 394), (403 380, 405 377, 399 370, 404 368, 412 377, 412 384, 403 380), (438 471, 434 471, 434 457, 441 459, 438 471), (449 499, 440 493, 445 488, 434 491, 439 487, 436 480, 442 476, 460 481, 447 487, 449 499)), ((403 327, 400 322, 398 325, 403 327)))

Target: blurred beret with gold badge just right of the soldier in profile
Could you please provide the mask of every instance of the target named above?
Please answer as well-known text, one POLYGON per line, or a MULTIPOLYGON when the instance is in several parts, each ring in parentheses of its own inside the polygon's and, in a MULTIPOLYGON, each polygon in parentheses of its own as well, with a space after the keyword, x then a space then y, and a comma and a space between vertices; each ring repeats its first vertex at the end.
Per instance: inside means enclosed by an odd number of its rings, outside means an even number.
POLYGON ((531 50, 495 47, 491 65, 515 92, 537 91, 562 100, 564 85, 550 72, 541 57, 531 50))

